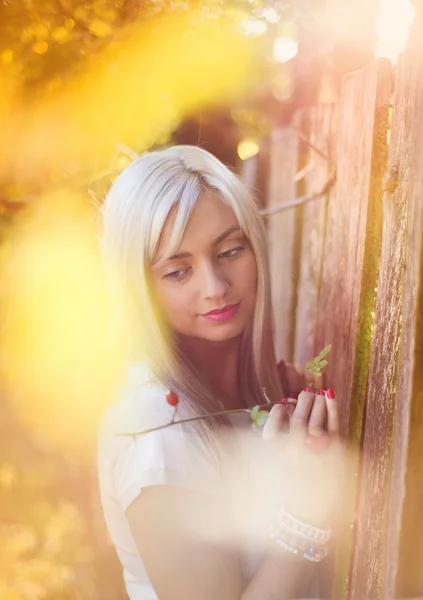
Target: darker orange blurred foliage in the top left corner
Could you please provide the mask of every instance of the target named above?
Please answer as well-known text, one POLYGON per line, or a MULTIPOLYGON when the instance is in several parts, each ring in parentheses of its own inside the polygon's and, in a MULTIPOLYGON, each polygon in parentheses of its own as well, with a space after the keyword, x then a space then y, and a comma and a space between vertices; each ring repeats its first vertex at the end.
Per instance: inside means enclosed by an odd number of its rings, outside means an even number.
POLYGON ((45 94, 119 39, 125 26, 172 11, 239 25, 264 2, 255 0, 6 0, 0 3, 0 56, 22 92, 45 94))

